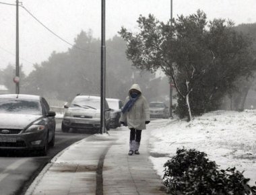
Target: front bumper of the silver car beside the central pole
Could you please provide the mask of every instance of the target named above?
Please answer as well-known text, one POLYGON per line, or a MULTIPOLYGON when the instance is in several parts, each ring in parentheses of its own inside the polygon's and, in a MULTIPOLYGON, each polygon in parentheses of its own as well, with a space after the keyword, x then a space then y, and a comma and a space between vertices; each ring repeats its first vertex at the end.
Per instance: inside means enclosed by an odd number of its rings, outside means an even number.
POLYGON ((100 119, 65 117, 63 124, 69 128, 100 128, 100 119))

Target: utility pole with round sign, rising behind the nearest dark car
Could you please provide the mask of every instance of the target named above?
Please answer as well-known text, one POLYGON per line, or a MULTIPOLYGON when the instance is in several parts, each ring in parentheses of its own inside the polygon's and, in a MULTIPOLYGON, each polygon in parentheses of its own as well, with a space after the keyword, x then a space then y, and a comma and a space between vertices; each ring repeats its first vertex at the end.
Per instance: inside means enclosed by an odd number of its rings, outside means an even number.
POLYGON ((16 76, 13 81, 16 83, 16 93, 20 93, 20 61, 19 61, 19 0, 16 0, 16 76))

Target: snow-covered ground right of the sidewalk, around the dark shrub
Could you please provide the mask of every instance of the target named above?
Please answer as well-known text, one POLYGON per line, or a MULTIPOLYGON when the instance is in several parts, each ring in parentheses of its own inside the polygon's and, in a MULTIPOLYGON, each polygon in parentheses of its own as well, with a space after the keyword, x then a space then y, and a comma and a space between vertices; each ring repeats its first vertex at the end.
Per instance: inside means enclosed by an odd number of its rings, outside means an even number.
POLYGON ((177 148, 196 149, 216 161, 220 169, 236 167, 245 171, 249 184, 256 182, 256 110, 244 112, 216 111, 185 120, 153 120, 150 153, 159 176, 164 175, 164 163, 176 155, 177 148))

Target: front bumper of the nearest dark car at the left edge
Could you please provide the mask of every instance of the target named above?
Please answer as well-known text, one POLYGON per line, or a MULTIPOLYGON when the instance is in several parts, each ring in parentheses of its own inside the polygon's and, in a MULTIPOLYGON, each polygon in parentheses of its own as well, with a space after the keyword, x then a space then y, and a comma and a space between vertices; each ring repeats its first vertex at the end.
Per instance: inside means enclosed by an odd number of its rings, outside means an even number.
POLYGON ((42 149, 46 131, 0 134, 0 149, 42 149))

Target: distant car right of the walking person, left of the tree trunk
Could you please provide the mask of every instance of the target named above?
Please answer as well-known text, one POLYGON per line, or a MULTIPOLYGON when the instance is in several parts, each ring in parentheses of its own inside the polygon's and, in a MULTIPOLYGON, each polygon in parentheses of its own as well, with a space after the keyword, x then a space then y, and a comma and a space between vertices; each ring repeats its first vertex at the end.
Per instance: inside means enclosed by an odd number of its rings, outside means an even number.
POLYGON ((169 110, 164 102, 150 102, 151 118, 168 118, 169 110))

